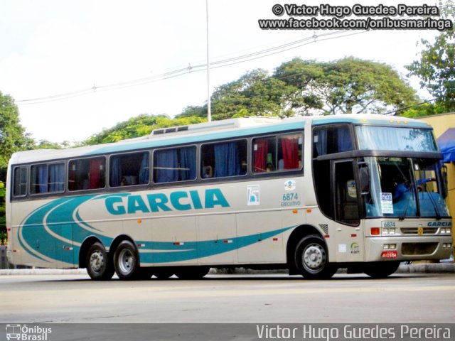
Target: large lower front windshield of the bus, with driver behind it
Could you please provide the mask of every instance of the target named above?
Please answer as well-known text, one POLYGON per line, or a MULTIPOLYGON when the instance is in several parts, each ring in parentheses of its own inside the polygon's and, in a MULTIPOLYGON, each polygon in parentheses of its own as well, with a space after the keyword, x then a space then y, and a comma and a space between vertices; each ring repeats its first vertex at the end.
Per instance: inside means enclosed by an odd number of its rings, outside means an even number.
POLYGON ((448 217, 439 189, 437 161, 412 158, 365 158, 370 190, 367 217, 448 217))

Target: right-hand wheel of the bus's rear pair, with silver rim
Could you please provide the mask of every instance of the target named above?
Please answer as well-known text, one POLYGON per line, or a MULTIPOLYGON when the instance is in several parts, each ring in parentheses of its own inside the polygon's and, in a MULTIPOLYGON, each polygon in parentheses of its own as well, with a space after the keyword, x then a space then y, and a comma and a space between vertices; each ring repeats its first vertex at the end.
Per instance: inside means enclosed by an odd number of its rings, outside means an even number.
POLYGON ((136 247, 129 240, 119 244, 114 252, 114 269, 122 280, 131 280, 139 274, 139 259, 136 247))

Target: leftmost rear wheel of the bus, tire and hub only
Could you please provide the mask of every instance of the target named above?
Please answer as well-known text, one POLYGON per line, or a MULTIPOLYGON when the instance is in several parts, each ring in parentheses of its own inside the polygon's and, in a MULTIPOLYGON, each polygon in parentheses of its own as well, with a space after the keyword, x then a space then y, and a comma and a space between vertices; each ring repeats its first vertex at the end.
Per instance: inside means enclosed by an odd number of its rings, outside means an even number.
POLYGON ((88 249, 85 264, 88 275, 94 281, 108 281, 114 275, 112 261, 100 242, 95 242, 88 249))

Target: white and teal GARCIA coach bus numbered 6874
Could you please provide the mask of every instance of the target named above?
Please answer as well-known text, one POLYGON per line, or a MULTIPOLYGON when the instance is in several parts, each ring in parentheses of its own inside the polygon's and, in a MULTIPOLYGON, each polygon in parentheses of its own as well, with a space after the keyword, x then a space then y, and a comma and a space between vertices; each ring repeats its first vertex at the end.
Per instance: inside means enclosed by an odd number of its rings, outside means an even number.
POLYGON ((230 119, 14 153, 9 261, 94 280, 234 266, 385 277, 451 254, 440 160, 431 126, 380 115, 230 119))

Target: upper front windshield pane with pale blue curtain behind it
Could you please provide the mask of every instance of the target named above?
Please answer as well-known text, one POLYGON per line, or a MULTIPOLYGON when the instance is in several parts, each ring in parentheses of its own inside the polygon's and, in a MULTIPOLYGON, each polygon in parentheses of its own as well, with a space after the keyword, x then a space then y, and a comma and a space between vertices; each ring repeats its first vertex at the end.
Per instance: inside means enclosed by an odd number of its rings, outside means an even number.
POLYGON ((383 151, 437 151, 432 129, 356 126, 359 149, 383 151))

